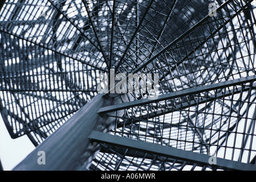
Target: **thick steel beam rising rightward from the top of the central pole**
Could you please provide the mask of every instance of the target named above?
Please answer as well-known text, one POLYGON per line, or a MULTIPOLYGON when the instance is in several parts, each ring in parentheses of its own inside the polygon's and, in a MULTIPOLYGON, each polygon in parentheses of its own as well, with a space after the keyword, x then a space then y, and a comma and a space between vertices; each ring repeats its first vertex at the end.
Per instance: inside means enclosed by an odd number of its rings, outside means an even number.
POLYGON ((136 101, 132 101, 132 102, 125 102, 123 104, 102 107, 99 109, 99 111, 97 111, 97 113, 99 113, 99 114, 109 113, 109 112, 116 111, 116 110, 122 110, 122 109, 128 109, 128 108, 135 107, 135 106, 147 105, 147 104, 165 101, 165 100, 169 100, 169 99, 177 98, 177 97, 190 96, 190 95, 196 94, 196 93, 208 92, 210 90, 227 88, 229 86, 245 84, 247 82, 254 82, 254 81, 256 81, 255 75, 249 76, 249 77, 238 78, 235 80, 219 82, 217 84, 200 86, 200 87, 180 90, 180 91, 172 92, 172 93, 168 93, 168 94, 163 94, 163 95, 159 96, 158 98, 156 98, 155 100, 149 100, 148 98, 145 98, 145 99, 136 100, 136 101))

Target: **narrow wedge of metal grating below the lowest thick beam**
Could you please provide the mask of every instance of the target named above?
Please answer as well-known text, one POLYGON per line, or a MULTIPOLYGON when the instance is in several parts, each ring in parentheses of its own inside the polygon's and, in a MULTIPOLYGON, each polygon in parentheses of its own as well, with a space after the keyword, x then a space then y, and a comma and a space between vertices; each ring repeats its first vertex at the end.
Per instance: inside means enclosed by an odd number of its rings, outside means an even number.
MULTIPOLYGON (((212 171, 217 167, 144 153, 129 148, 100 144, 101 152, 91 170, 101 171, 212 171)), ((222 170, 222 169, 221 169, 222 170)))

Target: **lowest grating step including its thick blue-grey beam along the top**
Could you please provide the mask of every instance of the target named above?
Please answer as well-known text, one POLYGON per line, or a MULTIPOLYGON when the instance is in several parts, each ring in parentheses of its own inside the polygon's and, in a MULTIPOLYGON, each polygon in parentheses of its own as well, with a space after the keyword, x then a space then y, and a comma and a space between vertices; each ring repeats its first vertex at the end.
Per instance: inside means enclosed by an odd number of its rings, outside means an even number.
POLYGON ((255 165, 253 164, 196 154, 192 151, 131 140, 97 131, 93 131, 89 138, 92 142, 99 143, 101 147, 101 152, 90 166, 91 170, 255 170, 255 165), (211 162, 213 160, 215 164, 211 162))

